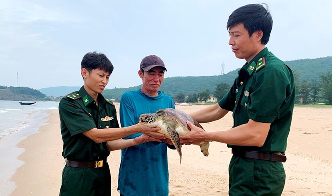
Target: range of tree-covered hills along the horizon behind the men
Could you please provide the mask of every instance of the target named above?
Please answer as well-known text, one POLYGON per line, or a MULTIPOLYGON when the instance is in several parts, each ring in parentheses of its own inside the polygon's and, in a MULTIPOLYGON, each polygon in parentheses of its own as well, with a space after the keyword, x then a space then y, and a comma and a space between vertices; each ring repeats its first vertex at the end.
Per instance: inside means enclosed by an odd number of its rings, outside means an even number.
MULTIPOLYGON (((306 80, 308 82, 319 80, 319 76, 323 73, 332 73, 332 56, 322 57, 316 59, 299 59, 285 62, 296 73, 297 81, 302 82, 306 80)), ((232 84, 237 76, 239 69, 231 71, 225 75, 216 76, 187 76, 187 77, 170 77, 165 78, 162 87, 160 88, 165 94, 176 95, 180 92, 188 95, 190 93, 202 92, 205 89, 209 89, 211 92, 215 91, 216 85, 219 83, 232 84)), ((136 90, 141 85, 129 88, 114 88, 106 89, 103 95, 107 98, 120 99, 121 95, 125 91, 136 90)), ((80 87, 49 87, 42 88, 40 91, 47 96, 65 96, 66 94, 78 90, 80 87)), ((32 96, 33 91, 25 93, 24 91, 8 91, 0 89, 0 100, 27 100, 32 101, 36 99, 42 99, 41 97, 32 96), (21 94, 21 95, 19 95, 21 94), (28 97, 25 97, 27 95, 28 97)), ((13 90, 13 89, 12 89, 13 90)), ((14 89, 17 90, 17 89, 14 89)))

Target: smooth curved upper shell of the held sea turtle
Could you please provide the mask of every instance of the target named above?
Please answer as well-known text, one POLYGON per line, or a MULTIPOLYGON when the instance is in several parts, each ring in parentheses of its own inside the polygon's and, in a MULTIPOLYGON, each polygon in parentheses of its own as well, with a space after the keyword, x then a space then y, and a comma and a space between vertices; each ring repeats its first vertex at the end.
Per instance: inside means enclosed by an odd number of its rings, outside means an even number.
POLYGON ((203 127, 196 120, 194 120, 193 118, 191 118, 191 116, 181 110, 176 110, 173 108, 159 109, 156 112, 156 115, 165 116, 170 119, 176 120, 178 124, 182 125, 184 128, 187 127, 188 131, 190 131, 190 127, 187 125, 186 121, 189 121, 197 127, 203 129, 203 127))

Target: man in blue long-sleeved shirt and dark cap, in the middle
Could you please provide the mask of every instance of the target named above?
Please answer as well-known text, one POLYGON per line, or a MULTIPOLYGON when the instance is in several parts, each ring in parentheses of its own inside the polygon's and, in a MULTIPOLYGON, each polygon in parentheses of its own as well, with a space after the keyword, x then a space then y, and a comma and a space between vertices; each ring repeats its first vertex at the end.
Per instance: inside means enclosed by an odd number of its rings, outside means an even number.
MULTIPOLYGON (((138 75, 142 87, 125 92, 120 101, 122 127, 138 123, 143 113, 154 113, 158 109, 175 108, 173 99, 159 91, 164 80, 164 62, 156 55, 142 59, 138 75)), ((141 133, 123 139, 136 138, 141 133)), ((118 190, 120 196, 168 196, 167 146, 170 140, 147 142, 122 149, 119 168, 118 190)))

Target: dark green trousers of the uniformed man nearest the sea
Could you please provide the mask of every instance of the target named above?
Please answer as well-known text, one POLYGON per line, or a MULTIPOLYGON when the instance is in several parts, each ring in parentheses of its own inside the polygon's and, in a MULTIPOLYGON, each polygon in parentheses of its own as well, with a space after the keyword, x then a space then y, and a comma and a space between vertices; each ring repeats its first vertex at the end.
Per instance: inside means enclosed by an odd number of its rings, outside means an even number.
POLYGON ((60 196, 111 196, 108 163, 100 168, 64 166, 60 196))

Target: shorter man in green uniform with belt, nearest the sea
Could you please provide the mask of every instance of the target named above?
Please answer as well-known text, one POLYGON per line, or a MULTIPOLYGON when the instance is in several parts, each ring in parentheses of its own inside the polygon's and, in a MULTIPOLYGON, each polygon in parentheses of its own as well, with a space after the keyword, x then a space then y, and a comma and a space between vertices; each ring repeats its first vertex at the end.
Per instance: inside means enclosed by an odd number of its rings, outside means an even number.
POLYGON ((160 128, 140 124, 119 128, 113 102, 101 94, 112 72, 113 65, 104 54, 87 53, 81 62, 84 86, 59 103, 62 156, 66 159, 60 196, 110 196, 109 151, 158 141, 153 137, 165 139, 155 132, 160 128), (144 134, 120 144, 107 143, 138 132, 144 134))

